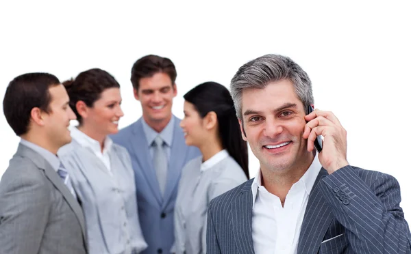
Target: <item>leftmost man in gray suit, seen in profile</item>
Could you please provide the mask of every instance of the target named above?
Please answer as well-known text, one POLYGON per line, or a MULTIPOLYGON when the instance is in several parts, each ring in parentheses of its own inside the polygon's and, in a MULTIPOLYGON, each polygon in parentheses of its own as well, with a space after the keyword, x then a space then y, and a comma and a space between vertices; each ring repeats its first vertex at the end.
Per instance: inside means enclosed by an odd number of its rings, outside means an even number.
POLYGON ((86 253, 82 208, 56 156, 75 119, 66 89, 51 74, 17 76, 3 111, 21 142, 0 182, 0 253, 86 253))

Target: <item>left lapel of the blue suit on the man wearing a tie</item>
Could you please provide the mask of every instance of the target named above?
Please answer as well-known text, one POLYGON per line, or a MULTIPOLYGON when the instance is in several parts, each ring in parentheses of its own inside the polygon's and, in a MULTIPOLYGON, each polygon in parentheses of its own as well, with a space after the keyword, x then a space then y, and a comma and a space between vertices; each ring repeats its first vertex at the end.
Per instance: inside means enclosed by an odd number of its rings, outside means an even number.
POLYGON ((147 147, 147 138, 145 137, 145 132, 142 129, 142 118, 140 118, 134 126, 134 139, 132 139, 132 145, 136 151, 136 156, 138 158, 138 163, 140 164, 140 169, 142 175, 149 183, 151 192, 153 193, 155 199, 157 199, 158 204, 162 204, 162 196, 160 194, 160 186, 158 185, 157 176, 155 175, 155 170, 153 166, 153 160, 149 152, 149 147, 147 147))

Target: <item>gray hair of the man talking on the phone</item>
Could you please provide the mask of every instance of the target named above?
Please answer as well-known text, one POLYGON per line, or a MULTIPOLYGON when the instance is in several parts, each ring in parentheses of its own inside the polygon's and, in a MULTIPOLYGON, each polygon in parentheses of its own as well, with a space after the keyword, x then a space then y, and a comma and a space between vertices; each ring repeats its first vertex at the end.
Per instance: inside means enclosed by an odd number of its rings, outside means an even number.
MULTIPOLYGON (((303 102, 304 110, 314 104, 311 81, 308 74, 289 57, 263 55, 241 66, 234 75, 230 93, 234 100, 237 117, 242 119, 242 91, 264 89, 271 82, 288 79, 294 85, 295 94, 303 102)), ((308 112, 306 112, 308 113, 308 112)))

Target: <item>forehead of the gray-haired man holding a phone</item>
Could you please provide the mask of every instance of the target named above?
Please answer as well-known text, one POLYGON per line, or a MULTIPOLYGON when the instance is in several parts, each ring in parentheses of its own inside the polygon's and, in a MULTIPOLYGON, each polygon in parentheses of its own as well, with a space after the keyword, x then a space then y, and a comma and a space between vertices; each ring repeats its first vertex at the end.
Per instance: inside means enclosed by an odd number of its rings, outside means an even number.
POLYGON ((242 91, 242 112, 273 111, 277 107, 293 103, 303 107, 301 100, 295 94, 294 85, 288 79, 271 82, 264 89, 247 89, 242 91))

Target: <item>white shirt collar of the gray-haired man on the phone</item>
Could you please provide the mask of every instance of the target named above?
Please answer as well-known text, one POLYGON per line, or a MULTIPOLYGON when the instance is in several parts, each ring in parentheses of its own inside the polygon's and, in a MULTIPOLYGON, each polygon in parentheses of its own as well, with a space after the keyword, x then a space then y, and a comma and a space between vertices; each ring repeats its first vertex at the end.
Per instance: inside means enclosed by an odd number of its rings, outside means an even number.
MULTIPOLYGON (((316 153, 316 155, 314 156, 314 160, 312 160, 312 163, 310 167, 307 169, 306 173, 304 173, 303 176, 301 176, 301 178, 295 184, 302 182, 304 184, 306 193, 310 195, 312 187, 314 186, 314 182, 321 170, 321 167, 322 166, 318 157, 318 153, 316 153)), ((253 183, 251 184, 251 192, 253 193, 253 207, 254 203, 256 202, 258 188, 261 186, 261 176, 261 169, 258 169, 257 175, 254 178, 253 183)), ((293 184, 293 186, 295 184, 293 184)))

